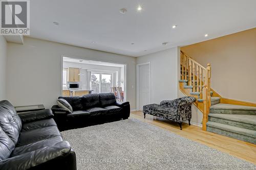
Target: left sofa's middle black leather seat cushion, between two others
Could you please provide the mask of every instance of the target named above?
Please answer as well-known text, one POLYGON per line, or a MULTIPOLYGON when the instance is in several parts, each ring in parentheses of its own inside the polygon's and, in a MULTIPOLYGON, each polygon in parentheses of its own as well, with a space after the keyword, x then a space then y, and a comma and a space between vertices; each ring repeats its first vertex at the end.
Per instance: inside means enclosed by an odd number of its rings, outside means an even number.
POLYGON ((21 145, 34 143, 42 139, 48 139, 55 136, 61 136, 56 126, 49 126, 41 129, 34 129, 30 131, 22 131, 19 135, 19 139, 16 147, 21 145))

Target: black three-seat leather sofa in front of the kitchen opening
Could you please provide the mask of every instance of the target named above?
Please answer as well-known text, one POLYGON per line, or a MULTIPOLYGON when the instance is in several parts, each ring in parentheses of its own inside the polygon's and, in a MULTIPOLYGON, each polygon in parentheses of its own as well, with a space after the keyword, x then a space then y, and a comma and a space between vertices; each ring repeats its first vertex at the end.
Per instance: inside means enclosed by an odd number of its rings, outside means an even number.
POLYGON ((119 103, 114 93, 93 93, 83 96, 61 96, 73 108, 69 113, 57 105, 52 106, 54 119, 60 130, 98 124, 110 118, 127 119, 130 116, 130 103, 119 103))

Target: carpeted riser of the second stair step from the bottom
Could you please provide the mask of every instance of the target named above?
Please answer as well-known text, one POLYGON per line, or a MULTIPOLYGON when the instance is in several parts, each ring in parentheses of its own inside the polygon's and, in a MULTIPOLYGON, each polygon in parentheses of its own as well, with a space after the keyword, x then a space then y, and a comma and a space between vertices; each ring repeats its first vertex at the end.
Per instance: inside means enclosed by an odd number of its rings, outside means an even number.
POLYGON ((222 118, 218 118, 218 117, 209 116, 208 121, 256 131, 256 126, 254 126, 254 125, 241 123, 241 122, 234 122, 232 120, 226 120, 226 119, 222 119, 222 118))

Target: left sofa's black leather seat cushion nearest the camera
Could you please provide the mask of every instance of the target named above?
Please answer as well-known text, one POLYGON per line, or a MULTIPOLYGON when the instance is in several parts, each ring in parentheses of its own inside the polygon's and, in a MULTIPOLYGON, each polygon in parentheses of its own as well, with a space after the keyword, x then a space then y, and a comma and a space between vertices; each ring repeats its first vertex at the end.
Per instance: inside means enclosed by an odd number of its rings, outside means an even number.
POLYGON ((52 137, 52 138, 42 139, 42 140, 39 140, 39 141, 34 142, 34 143, 25 144, 25 145, 22 145, 20 147, 16 147, 13 150, 13 152, 11 154, 11 157, 21 155, 21 154, 25 154, 27 152, 32 152, 32 151, 35 151, 37 149, 41 149, 41 148, 44 148, 44 147, 49 147, 49 146, 53 145, 54 143, 60 142, 62 140, 63 139, 62 139, 61 136, 55 136, 55 137, 52 137))

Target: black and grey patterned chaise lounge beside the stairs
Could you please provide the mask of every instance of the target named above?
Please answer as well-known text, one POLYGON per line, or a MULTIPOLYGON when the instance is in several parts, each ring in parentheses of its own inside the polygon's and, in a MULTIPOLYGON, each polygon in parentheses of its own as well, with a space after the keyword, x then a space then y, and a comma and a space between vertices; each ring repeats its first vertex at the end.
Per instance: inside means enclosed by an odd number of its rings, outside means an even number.
POLYGON ((192 96, 184 96, 172 101, 162 101, 160 105, 150 104, 143 106, 144 118, 146 114, 165 118, 177 122, 182 130, 182 122, 188 120, 190 125, 191 104, 196 102, 192 96))

